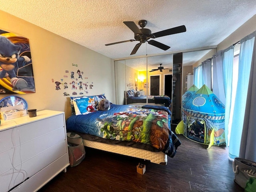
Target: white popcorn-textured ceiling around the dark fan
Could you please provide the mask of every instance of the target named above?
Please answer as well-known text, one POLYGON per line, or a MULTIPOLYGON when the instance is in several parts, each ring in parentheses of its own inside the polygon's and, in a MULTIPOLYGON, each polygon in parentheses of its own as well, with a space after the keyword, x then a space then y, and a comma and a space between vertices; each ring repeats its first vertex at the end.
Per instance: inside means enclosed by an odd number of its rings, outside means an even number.
POLYGON ((218 45, 256 14, 256 0, 0 0, 0 9, 119 59, 130 57, 138 43, 105 46, 134 39, 123 21, 147 20, 152 33, 186 26, 186 32, 154 39, 170 46, 167 51, 144 43, 133 57, 182 52, 218 45))

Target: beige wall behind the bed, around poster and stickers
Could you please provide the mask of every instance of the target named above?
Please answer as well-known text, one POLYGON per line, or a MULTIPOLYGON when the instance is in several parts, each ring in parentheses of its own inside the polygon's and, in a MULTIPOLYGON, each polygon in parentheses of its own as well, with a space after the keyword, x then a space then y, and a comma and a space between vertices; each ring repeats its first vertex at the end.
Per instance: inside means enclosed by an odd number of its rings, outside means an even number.
MULTIPOLYGON (((29 39, 36 93, 19 94, 28 108, 64 111, 70 116, 70 99, 52 82, 63 79, 66 70, 82 69, 93 89, 88 95, 104 93, 115 103, 114 60, 52 32, 0 11, 0 29, 29 39), (77 64, 78 67, 72 67, 77 64)), ((63 29, 65 30, 65 29, 63 29)), ((70 74, 67 74, 70 80, 70 74)), ((15 94, 17 95, 17 94, 15 94)), ((86 95, 86 94, 84 94, 86 95)), ((8 95, 0 95, 0 99, 8 95)))

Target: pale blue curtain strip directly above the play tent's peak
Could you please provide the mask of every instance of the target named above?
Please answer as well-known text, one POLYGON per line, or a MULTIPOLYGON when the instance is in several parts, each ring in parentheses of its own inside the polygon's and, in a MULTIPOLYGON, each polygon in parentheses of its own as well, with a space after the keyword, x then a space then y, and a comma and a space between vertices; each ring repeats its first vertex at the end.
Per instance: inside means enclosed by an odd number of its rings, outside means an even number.
POLYGON ((203 85, 212 88, 212 58, 202 62, 203 85))

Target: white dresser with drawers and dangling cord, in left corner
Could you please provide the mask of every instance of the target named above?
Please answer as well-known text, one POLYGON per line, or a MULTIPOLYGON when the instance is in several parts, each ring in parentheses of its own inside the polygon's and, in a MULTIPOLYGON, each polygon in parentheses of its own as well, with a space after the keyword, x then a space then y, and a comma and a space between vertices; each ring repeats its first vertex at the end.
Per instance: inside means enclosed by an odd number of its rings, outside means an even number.
POLYGON ((39 190, 69 166, 64 112, 42 110, 0 125, 0 191, 39 190))

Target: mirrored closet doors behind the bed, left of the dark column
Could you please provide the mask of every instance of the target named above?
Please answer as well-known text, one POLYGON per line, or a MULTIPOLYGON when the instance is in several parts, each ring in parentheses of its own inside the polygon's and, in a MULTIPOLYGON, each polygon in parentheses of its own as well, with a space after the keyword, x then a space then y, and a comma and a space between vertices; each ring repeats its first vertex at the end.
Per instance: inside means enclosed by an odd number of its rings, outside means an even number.
POLYGON ((115 61, 116 104, 170 106, 173 54, 115 61))

